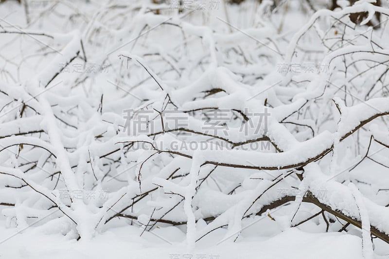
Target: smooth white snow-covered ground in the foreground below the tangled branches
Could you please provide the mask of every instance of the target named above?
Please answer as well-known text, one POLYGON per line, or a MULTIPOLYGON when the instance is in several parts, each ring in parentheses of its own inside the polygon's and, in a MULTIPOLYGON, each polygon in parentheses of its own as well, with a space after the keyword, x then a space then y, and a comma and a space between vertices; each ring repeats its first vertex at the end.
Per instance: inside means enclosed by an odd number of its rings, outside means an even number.
MULTIPOLYGON (((268 224, 268 222, 267 222, 268 224)), ((250 235, 243 242, 226 241, 218 245, 222 231, 198 244, 193 252, 186 250, 181 240, 185 233, 177 227, 158 228, 154 234, 139 237, 140 229, 120 224, 89 241, 75 241, 61 234, 45 234, 29 228, 17 234, 15 228, 1 227, 0 244, 2 258, 32 259, 362 259, 361 240, 354 235, 341 233, 307 233, 290 228, 275 236, 259 237, 266 224, 253 225, 250 235), (261 225, 261 226, 260 226, 261 225), (158 235, 158 236, 156 236, 158 235), (166 239, 165 242, 159 238, 166 239)), ((381 258, 381 257, 376 257, 381 258)), ((382 257, 387 258, 387 257, 382 257)))

